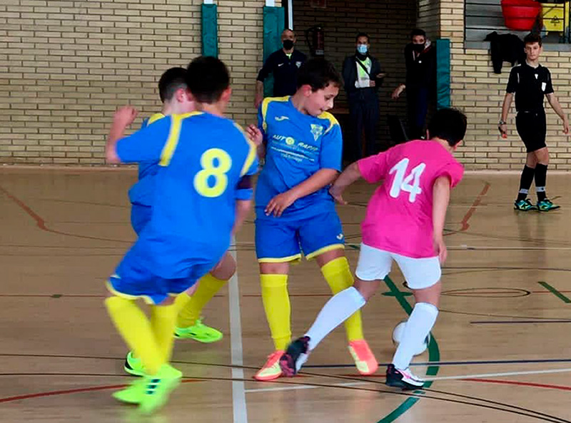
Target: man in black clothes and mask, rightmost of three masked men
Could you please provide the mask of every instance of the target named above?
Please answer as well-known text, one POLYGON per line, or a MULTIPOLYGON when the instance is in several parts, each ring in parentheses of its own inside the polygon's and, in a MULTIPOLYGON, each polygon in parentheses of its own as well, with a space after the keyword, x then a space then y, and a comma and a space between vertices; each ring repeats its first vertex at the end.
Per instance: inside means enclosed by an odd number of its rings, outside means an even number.
POLYGON ((428 96, 435 86, 436 55, 422 29, 413 29, 410 39, 405 46, 406 81, 393 91, 393 99, 406 89, 408 136, 416 140, 425 136, 428 96))

